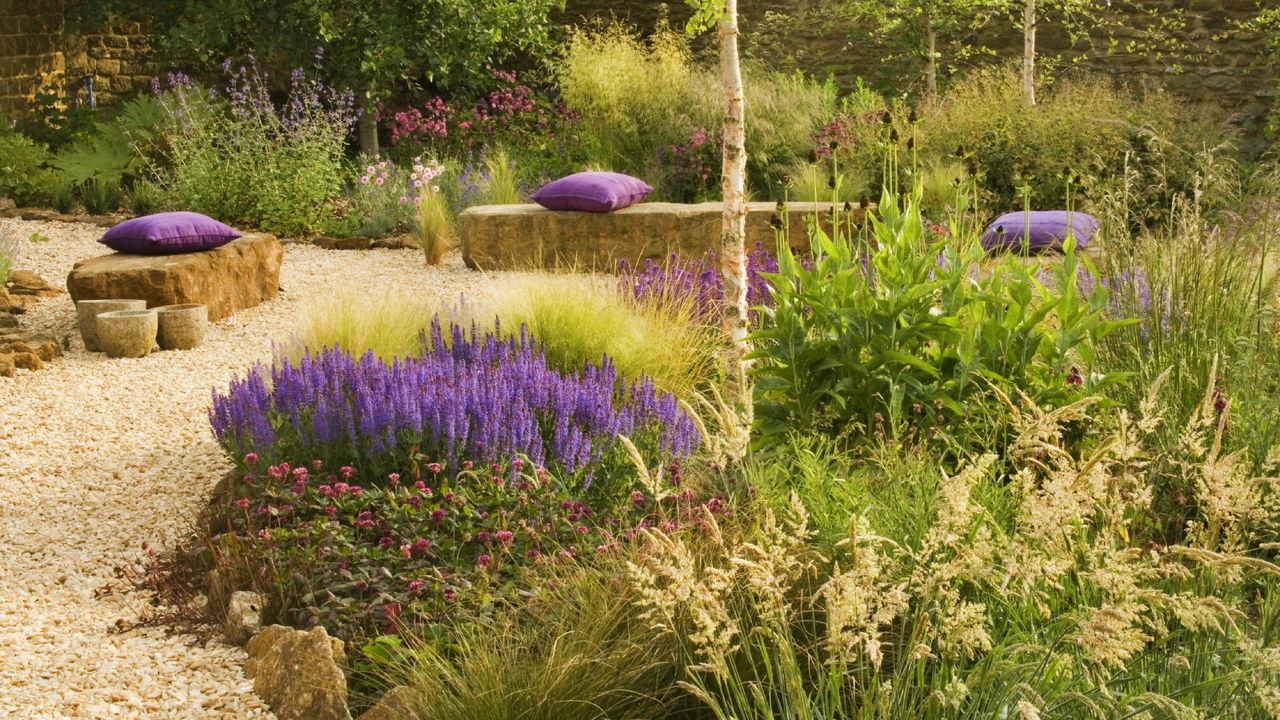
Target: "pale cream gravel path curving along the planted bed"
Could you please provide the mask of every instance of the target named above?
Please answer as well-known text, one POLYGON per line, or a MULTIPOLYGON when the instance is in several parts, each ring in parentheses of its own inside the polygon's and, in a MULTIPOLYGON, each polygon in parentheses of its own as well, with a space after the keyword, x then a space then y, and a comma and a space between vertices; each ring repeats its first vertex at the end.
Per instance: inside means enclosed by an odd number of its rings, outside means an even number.
MULTIPOLYGON (((17 266, 55 286, 102 252, 95 227, 0 219, 6 232, 20 238, 17 266), (36 232, 49 240, 27 240, 36 232)), ((0 717, 270 717, 239 648, 110 634, 143 598, 95 591, 143 542, 180 538, 228 468, 209 432, 210 388, 269 359, 308 299, 339 287, 453 297, 484 281, 457 259, 425 268, 416 251, 289 245, 279 297, 211 327, 197 350, 138 360, 86 354, 65 295, 22 318, 70 350, 0 378, 0 717)))

